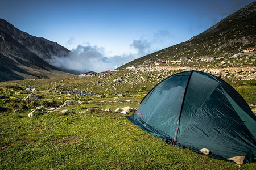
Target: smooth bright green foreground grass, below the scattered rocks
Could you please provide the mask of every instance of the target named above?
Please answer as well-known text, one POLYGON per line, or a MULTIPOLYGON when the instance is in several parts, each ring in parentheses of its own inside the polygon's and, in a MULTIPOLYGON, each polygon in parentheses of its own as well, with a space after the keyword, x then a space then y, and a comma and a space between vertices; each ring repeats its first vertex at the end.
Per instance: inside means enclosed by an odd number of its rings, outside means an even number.
MULTIPOLYGON (((255 169, 167 145, 120 113, 79 105, 75 114, 0 115, 2 169, 255 169)), ((131 114, 131 113, 130 113, 131 114)))

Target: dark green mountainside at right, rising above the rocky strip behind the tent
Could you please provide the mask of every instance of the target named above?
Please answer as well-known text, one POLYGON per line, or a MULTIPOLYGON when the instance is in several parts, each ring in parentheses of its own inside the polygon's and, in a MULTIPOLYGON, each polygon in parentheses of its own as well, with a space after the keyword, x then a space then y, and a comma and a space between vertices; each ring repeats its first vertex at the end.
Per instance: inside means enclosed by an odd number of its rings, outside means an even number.
POLYGON ((203 33, 186 42, 170 46, 123 65, 142 65, 158 59, 177 60, 184 57, 230 57, 244 48, 256 48, 256 1, 222 19, 203 33))

